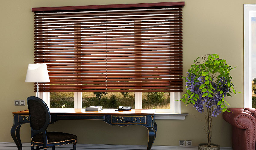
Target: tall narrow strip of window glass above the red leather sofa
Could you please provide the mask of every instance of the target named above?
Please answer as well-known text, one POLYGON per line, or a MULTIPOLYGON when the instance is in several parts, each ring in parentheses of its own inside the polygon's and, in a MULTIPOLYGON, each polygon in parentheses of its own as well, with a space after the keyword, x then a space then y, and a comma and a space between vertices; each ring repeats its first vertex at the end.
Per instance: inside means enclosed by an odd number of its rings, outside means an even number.
POLYGON ((256 108, 256 17, 251 17, 251 77, 251 103, 256 108))

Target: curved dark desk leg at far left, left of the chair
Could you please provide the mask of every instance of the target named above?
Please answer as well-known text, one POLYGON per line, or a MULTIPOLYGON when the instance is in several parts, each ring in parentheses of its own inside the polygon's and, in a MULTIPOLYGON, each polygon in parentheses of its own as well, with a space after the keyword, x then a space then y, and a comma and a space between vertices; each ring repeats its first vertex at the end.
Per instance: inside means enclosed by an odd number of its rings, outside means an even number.
POLYGON ((23 125, 23 123, 19 122, 18 114, 15 114, 13 116, 13 126, 11 127, 11 137, 14 140, 18 150, 22 150, 22 144, 20 141, 20 126, 23 125))

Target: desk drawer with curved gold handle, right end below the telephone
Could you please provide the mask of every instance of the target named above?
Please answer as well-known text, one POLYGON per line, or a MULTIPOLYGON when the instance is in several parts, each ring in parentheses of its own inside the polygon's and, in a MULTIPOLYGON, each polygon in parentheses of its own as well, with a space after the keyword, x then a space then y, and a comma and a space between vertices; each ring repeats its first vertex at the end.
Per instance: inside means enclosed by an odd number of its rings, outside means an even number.
POLYGON ((111 116, 112 124, 146 124, 146 116, 111 116))

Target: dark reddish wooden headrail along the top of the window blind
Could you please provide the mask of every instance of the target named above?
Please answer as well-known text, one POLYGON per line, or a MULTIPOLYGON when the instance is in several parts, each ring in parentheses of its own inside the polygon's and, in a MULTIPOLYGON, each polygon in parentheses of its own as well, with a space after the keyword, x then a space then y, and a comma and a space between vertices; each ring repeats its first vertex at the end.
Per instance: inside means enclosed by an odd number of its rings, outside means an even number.
POLYGON ((162 2, 162 3, 138 3, 138 4, 108 4, 88 6, 61 6, 61 7, 35 7, 33 12, 56 11, 56 10, 85 10, 85 9, 111 9, 111 8, 136 8, 136 7, 163 7, 163 6, 185 6, 184 1, 162 2))

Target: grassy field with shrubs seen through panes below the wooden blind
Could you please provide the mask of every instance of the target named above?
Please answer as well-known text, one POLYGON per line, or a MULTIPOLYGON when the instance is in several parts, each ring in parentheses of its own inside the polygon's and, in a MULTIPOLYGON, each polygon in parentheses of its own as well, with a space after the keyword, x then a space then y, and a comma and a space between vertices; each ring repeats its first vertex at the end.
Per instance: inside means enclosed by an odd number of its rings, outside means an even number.
MULTIPOLYGON (((83 108, 103 106, 103 108, 118 108, 131 106, 134 108, 133 92, 113 92, 96 96, 94 93, 83 93, 83 108)), ((50 108, 74 108, 74 93, 50 93, 50 108), (65 105, 65 106, 63 106, 65 105)), ((142 93, 143 109, 170 109, 170 92, 142 93)))

